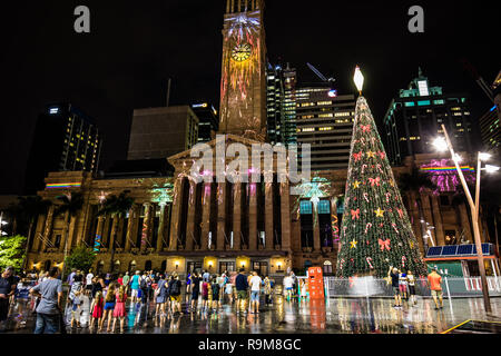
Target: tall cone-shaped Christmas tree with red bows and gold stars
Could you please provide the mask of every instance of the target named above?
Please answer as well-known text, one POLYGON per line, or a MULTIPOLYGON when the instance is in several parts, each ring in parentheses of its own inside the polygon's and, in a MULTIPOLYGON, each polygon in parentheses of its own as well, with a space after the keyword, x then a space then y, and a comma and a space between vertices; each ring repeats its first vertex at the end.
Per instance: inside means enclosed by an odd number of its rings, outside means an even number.
POLYGON ((405 207, 364 97, 356 102, 347 171, 337 277, 374 273, 385 277, 390 266, 424 276, 405 207))

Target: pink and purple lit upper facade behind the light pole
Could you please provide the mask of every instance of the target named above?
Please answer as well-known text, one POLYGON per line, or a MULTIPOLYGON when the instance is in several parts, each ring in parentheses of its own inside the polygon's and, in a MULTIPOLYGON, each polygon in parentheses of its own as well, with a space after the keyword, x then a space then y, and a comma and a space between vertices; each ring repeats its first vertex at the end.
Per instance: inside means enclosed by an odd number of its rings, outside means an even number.
MULTIPOLYGON (((461 170, 464 172, 464 179, 466 182, 474 182, 475 169, 470 166, 461 166, 461 170)), ((443 191, 458 191, 458 187, 461 186, 461 180, 458 176, 458 170, 450 159, 433 159, 430 164, 422 165, 420 170, 426 172, 430 180, 436 186, 434 194, 443 191)))

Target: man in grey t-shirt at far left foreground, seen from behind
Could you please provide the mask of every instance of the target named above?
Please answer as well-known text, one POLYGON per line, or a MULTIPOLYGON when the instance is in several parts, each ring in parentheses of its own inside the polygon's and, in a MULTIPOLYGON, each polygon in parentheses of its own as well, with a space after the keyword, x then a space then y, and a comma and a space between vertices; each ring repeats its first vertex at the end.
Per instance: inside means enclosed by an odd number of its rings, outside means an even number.
POLYGON ((59 269, 52 267, 49 278, 31 288, 30 294, 41 295, 37 307, 37 324, 35 334, 56 334, 62 332, 62 281, 58 279, 59 269))

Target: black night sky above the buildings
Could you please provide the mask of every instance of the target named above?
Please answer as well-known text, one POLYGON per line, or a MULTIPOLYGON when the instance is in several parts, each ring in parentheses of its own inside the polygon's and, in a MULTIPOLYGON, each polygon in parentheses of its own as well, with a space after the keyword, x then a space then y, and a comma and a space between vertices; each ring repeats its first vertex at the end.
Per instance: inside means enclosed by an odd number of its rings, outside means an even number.
MULTIPOLYGON (((226 0, 12 1, 0 24, 0 194, 21 194, 38 113, 69 101, 96 118, 104 135, 101 169, 125 159, 135 108, 212 101, 218 106, 226 0), (91 11, 91 33, 73 31, 73 9, 91 11)), ((489 3, 491 3, 489 1, 489 3)), ((355 92, 353 69, 381 121, 391 99, 423 68, 431 85, 472 97, 478 119, 492 107, 463 69, 468 59, 491 83, 501 69, 494 41, 499 12, 484 1, 268 0, 266 43, 272 62, 315 81, 306 62, 355 92), (425 33, 407 31, 407 9, 425 11, 425 33), (491 7, 491 8, 490 8, 491 7)))

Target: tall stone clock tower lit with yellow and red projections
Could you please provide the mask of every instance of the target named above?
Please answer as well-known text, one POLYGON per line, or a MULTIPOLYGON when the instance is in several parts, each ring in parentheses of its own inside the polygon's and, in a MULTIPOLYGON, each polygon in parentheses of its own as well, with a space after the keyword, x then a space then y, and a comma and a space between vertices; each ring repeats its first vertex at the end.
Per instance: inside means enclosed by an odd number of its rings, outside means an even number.
POLYGON ((264 0, 227 0, 219 134, 266 139, 264 0))

